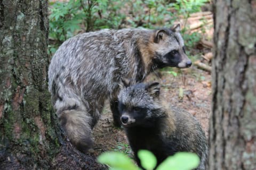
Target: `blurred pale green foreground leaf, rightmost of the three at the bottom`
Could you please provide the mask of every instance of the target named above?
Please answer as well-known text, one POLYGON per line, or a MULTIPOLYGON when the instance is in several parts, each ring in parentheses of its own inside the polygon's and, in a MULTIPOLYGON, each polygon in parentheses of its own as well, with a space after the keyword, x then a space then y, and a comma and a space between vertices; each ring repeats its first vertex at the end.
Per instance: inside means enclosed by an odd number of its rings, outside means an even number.
POLYGON ((199 165, 200 159, 194 153, 178 152, 174 156, 169 156, 162 164, 157 167, 157 170, 190 170, 199 165))

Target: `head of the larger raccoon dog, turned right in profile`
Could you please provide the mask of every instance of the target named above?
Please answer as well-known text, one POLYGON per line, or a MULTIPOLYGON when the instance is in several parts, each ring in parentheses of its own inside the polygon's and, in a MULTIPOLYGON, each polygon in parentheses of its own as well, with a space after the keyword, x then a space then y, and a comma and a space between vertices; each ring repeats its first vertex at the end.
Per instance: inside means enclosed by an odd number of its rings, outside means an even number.
POLYGON ((158 68, 172 66, 185 68, 191 66, 191 61, 185 52, 184 41, 180 35, 180 24, 171 29, 155 30, 153 62, 158 68))

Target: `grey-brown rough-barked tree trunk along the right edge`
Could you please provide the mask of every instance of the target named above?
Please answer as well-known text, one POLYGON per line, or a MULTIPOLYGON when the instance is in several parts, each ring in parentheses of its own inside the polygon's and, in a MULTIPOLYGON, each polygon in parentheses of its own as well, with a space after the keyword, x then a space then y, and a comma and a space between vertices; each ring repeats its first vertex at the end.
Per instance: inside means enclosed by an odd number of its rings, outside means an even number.
POLYGON ((256 1, 213 3, 209 169, 255 169, 256 1))

